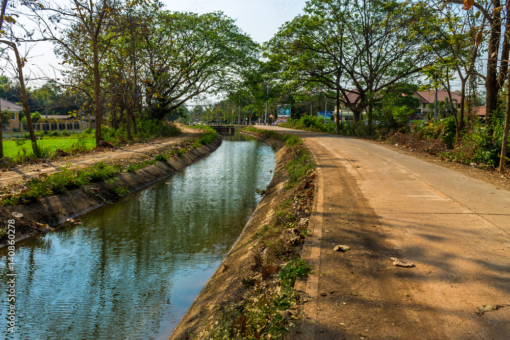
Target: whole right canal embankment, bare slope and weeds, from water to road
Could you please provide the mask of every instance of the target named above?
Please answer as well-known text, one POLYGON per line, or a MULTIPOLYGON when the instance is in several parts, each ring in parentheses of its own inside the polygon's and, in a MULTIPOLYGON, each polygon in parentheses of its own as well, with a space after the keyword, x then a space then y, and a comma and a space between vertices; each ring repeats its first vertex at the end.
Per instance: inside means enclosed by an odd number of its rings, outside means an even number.
POLYGON ((298 316, 297 277, 315 196, 315 161, 302 141, 267 130, 243 132, 276 153, 273 179, 238 240, 169 339, 277 338, 298 316))

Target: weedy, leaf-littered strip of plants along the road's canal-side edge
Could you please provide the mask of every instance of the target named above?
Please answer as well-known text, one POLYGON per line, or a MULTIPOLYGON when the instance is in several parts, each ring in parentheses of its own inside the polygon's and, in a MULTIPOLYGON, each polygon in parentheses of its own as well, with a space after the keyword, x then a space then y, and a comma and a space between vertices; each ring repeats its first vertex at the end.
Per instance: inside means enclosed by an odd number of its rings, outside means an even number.
POLYGON ((294 290, 296 279, 311 271, 300 252, 312 212, 316 164, 294 135, 251 127, 245 130, 276 141, 273 147, 285 142, 287 166, 275 176, 284 176, 286 185, 279 196, 282 203, 274 208, 270 222, 259 227, 248 242, 253 252, 251 271, 255 274, 242 280, 241 299, 234 296, 220 303, 217 318, 206 324, 206 337, 283 339, 299 319, 294 308, 300 303, 294 290))

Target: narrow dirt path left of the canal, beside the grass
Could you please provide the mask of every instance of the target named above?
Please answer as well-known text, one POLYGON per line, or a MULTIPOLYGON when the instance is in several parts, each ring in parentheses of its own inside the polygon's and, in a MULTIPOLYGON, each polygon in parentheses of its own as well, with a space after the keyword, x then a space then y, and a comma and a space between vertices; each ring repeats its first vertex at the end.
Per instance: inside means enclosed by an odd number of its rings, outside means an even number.
POLYGON ((13 168, 9 171, 0 172, 0 185, 9 186, 22 181, 25 176, 30 178, 41 173, 53 173, 59 171, 60 167, 71 163, 73 167, 86 167, 101 161, 130 162, 150 157, 157 151, 167 149, 169 146, 180 142, 199 137, 200 133, 195 129, 181 126, 183 133, 176 137, 155 140, 146 143, 136 143, 125 147, 107 148, 102 151, 92 151, 86 154, 69 156, 55 161, 48 161, 40 164, 26 164, 13 168))

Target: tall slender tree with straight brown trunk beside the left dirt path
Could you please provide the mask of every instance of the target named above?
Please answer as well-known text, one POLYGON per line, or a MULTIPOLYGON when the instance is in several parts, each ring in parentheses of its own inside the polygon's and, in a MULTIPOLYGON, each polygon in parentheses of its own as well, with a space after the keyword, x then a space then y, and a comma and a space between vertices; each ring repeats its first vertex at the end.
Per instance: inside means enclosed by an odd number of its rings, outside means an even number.
MULTIPOLYGON (((96 147, 101 141, 101 63, 114 36, 108 34, 109 27, 117 24, 119 14, 126 8, 136 6, 137 1, 72 0, 71 6, 38 0, 23 0, 30 16, 38 28, 39 37, 29 36, 30 41, 53 41, 63 63, 80 66, 92 73, 91 102, 96 121, 96 147), (82 47, 82 48, 77 48, 82 47), (90 53, 91 52, 91 53, 90 53)), ((75 84, 68 82, 67 85, 75 84)), ((81 90, 85 90, 76 86, 81 90)), ((85 93, 90 93, 84 91, 85 93)))

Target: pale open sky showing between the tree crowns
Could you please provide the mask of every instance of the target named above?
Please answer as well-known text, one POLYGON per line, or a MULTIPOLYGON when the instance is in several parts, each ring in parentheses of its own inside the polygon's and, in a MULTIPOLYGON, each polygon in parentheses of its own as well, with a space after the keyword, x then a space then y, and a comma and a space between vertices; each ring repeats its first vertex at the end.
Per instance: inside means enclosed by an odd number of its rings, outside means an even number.
MULTIPOLYGON (((58 2, 66 1, 58 0, 58 2)), ((286 21, 302 13, 305 5, 305 0, 162 0, 162 2, 170 11, 198 14, 221 11, 226 16, 237 19, 238 27, 259 43, 271 39, 286 21)), ((32 57, 29 58, 28 68, 24 70, 25 72, 30 70, 32 78, 42 77, 43 74, 47 77, 55 75, 53 67, 58 68, 59 60, 53 53, 52 43, 38 43, 32 48, 30 56, 32 57)), ((2 66, 6 67, 6 75, 11 73, 8 70, 9 65, 2 66)), ((38 87, 44 83, 45 81, 32 79, 27 85, 38 87)))

